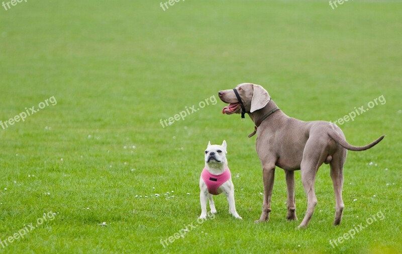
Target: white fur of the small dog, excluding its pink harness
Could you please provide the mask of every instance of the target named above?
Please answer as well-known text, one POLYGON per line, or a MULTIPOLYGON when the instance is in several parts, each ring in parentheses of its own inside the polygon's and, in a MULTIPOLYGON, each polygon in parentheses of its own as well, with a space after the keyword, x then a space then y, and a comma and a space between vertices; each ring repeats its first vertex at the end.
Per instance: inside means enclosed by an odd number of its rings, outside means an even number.
MULTIPOLYGON (((207 170, 214 175, 222 174, 228 165, 228 162, 226 160, 226 154, 228 153, 226 151, 226 141, 223 141, 222 146, 211 145, 211 142, 209 142, 206 152, 207 154, 205 154, 205 167, 207 168, 207 170), (216 158, 216 160, 210 160, 208 162, 208 159, 211 156, 211 152, 215 152, 214 157, 216 158)), ((208 192, 207 184, 204 182, 204 179, 202 177, 200 177, 199 179, 199 189, 199 200, 201 203, 201 215, 199 216, 199 218, 204 219, 207 217, 207 198, 210 201, 211 212, 216 213, 217 210, 215 209, 215 203, 212 198, 213 195, 208 192)), ((226 195, 226 199, 228 200, 229 213, 236 218, 241 219, 242 217, 240 217, 240 215, 236 211, 234 195, 235 190, 232 182, 232 177, 230 177, 228 181, 223 183, 218 188, 218 193, 222 192, 226 195)))

